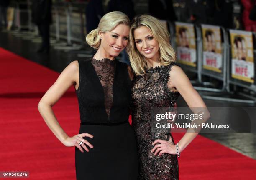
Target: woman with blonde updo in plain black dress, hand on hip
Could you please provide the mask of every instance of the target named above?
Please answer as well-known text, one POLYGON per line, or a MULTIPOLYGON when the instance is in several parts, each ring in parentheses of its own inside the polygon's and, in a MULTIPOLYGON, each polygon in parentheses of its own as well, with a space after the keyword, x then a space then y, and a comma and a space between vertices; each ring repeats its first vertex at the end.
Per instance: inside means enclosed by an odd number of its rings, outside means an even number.
POLYGON ((86 37, 96 54, 71 62, 38 105, 61 143, 75 147, 77 180, 137 179, 136 142, 128 123, 131 79, 127 65, 115 60, 128 43, 129 23, 121 12, 104 15, 86 37), (79 134, 70 137, 51 107, 71 85, 77 93, 81 126, 79 134))

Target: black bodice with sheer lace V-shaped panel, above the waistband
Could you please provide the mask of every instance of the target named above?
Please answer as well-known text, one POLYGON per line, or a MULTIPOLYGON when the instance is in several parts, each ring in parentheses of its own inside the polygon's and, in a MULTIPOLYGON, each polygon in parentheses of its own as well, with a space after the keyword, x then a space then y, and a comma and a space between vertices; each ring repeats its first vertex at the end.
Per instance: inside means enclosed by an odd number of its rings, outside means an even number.
POLYGON ((79 60, 76 90, 81 123, 116 124, 128 121, 131 80, 127 65, 117 60, 79 60))

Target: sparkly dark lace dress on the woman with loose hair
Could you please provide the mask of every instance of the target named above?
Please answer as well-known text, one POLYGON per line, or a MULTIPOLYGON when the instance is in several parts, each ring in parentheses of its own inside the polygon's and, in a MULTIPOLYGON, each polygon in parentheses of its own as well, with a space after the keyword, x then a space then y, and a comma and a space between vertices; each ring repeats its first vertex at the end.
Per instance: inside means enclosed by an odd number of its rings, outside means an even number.
MULTIPOLYGON (((167 87, 169 72, 176 65, 172 62, 167 66, 151 67, 143 75, 134 77, 132 82, 132 127, 135 130, 139 157, 138 180, 178 180, 177 155, 167 153, 154 156, 150 153, 156 139, 172 138, 170 132, 151 133, 151 108, 174 107, 179 92, 167 87)), ((174 140, 172 138, 174 143, 174 140)))

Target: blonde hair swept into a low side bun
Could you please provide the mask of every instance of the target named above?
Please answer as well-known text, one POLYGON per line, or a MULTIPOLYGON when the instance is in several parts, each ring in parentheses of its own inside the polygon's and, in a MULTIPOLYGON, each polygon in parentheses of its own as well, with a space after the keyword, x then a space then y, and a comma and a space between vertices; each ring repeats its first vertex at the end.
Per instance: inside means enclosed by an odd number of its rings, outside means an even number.
POLYGON ((120 11, 113 11, 105 14, 101 19, 97 29, 92 30, 86 36, 86 42, 94 49, 100 47, 100 36, 99 32, 110 32, 115 29, 119 24, 130 25, 130 20, 127 15, 120 11))

